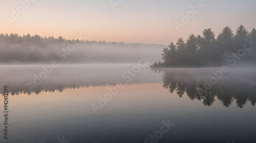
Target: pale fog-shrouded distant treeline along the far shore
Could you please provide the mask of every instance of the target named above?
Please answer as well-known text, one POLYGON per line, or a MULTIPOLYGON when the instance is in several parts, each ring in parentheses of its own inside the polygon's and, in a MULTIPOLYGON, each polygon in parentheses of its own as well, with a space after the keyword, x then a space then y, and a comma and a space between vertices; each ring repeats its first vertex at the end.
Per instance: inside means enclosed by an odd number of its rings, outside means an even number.
POLYGON ((65 40, 0 35, 0 64, 59 63, 137 63, 147 54, 152 62, 161 60, 164 45, 65 40))

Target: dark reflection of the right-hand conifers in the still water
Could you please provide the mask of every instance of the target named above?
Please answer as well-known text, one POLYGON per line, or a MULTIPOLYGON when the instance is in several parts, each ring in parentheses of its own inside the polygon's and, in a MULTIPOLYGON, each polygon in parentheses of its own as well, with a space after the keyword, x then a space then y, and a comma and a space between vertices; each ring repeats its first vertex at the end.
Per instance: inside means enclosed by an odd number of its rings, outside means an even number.
POLYGON ((237 107, 243 108, 247 102, 250 102, 252 106, 256 102, 255 69, 230 70, 216 84, 212 85, 210 90, 205 90, 204 86, 207 84, 205 80, 214 76, 214 74, 210 74, 210 69, 153 71, 163 72, 163 88, 169 89, 170 93, 176 92, 179 97, 186 94, 191 100, 202 100, 205 106, 211 106, 215 99, 221 101, 225 107, 236 102, 237 107))

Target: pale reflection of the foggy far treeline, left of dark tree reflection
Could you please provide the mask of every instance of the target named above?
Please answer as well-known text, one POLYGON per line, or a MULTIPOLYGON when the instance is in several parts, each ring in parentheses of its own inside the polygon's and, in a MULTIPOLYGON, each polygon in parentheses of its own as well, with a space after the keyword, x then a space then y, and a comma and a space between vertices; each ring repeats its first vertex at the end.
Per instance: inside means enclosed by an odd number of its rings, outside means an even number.
MULTIPOLYGON (((60 65, 53 69, 39 85, 36 85, 35 75, 44 71, 42 65, 0 65, 1 87, 8 85, 11 95, 39 94, 41 92, 62 92, 65 89, 99 87, 115 85, 117 82, 123 84, 134 83, 156 83, 161 82, 161 74, 154 74, 146 68, 141 68, 135 77, 126 82, 122 74, 131 69, 135 64, 84 64, 84 65, 60 65), (36 87, 29 89, 27 83, 36 87)), ((127 77, 127 75, 125 76, 127 77)), ((38 80, 38 79, 37 79, 38 80)), ((4 88, 0 88, 0 95, 4 88)))

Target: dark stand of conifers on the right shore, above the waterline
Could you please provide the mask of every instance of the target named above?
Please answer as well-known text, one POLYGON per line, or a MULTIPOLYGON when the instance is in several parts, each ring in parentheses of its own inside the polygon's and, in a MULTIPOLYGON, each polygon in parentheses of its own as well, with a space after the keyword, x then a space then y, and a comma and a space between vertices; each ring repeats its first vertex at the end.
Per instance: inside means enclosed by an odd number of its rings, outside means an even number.
POLYGON ((241 63, 255 64, 253 42, 256 42, 255 28, 248 32, 245 26, 240 25, 234 35, 231 28, 226 26, 217 38, 211 28, 206 28, 202 36, 191 34, 186 42, 183 38, 176 43, 171 42, 162 50, 162 61, 154 62, 151 67, 217 67, 238 59, 241 59, 241 63), (243 53, 244 46, 252 48, 243 53), (238 54, 245 55, 239 57, 238 54))

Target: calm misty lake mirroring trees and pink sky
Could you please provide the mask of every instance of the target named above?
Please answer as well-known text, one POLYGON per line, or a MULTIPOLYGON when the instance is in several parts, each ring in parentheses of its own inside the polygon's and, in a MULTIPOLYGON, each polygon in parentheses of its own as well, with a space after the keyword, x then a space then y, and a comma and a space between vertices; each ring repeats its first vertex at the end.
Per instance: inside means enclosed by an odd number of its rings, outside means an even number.
POLYGON ((256 68, 42 66, 0 65, 0 142, 256 142, 256 68))

